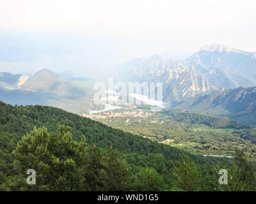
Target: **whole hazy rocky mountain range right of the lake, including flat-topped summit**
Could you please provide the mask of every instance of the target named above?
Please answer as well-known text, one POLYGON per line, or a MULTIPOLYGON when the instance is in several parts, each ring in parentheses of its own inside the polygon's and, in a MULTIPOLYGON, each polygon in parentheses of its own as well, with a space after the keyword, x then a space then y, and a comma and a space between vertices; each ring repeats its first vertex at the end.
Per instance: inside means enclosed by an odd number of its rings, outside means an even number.
POLYGON ((183 61, 154 55, 120 66, 116 78, 126 82, 163 82, 163 99, 170 103, 222 88, 256 86, 256 52, 211 45, 183 61))

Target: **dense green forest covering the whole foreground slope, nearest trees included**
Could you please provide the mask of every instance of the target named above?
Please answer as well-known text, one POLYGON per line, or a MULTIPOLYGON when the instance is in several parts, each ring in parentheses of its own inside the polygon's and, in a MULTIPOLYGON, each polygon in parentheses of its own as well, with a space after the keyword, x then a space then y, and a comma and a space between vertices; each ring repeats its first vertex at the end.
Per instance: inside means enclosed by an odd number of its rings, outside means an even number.
POLYGON ((0 102, 0 152, 1 191, 256 190, 254 163, 241 149, 234 158, 199 156, 49 106, 0 102))

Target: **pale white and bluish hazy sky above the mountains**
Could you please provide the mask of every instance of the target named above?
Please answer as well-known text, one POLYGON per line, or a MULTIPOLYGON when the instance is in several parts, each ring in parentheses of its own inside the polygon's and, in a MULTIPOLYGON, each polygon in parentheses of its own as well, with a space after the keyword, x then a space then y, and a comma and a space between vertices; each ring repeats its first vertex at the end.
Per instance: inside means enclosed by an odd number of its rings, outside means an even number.
POLYGON ((256 52, 255 8, 255 0, 1 0, 0 71, 90 74, 211 44, 256 52))

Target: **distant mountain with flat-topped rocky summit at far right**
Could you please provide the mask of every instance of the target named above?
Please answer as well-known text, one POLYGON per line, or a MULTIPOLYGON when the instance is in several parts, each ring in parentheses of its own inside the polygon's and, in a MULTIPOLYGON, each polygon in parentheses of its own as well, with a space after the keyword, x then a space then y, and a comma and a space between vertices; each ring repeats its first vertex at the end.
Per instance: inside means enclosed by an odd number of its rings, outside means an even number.
POLYGON ((256 52, 244 52, 223 45, 204 46, 186 59, 219 89, 255 86, 256 52))

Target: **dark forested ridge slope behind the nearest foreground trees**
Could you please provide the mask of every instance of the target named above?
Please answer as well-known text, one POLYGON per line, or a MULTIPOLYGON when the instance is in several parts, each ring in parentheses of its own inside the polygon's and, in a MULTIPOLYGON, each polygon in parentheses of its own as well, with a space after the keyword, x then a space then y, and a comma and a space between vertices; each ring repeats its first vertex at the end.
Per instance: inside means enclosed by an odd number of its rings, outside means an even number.
MULTIPOLYGON (((100 122, 65 112, 59 108, 49 106, 12 106, 0 101, 0 131, 25 135, 34 126, 45 126, 49 131, 56 131, 56 124, 64 124, 72 128, 74 140, 79 140, 81 135, 86 136, 90 145, 108 148, 113 145, 115 149, 127 153, 148 155, 161 153, 166 159, 177 160, 187 154, 204 163, 213 161, 202 156, 193 156, 184 150, 175 147, 151 142, 146 138, 113 129, 100 122)), ((216 159, 218 160, 218 159, 216 159)))

